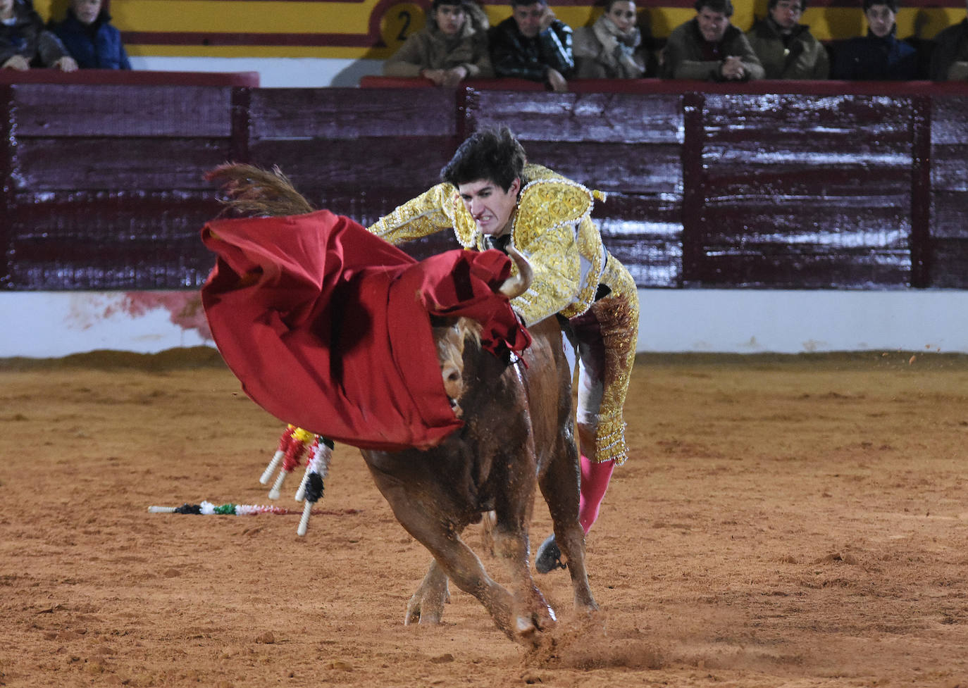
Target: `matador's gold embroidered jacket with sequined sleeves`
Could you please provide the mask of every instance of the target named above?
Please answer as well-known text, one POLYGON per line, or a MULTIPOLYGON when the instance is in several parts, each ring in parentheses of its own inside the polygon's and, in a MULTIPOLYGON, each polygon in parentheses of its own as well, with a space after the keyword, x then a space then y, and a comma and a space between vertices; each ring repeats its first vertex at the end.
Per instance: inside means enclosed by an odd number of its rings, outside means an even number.
MULTIPOLYGON (((605 249, 590 214, 591 192, 547 167, 525 165, 523 188, 511 221, 511 244, 534 270, 528 291, 511 303, 526 324, 560 313, 588 310, 605 264, 605 249)), ((370 226, 391 244, 453 228, 466 249, 488 247, 460 194, 438 184, 370 226)))

